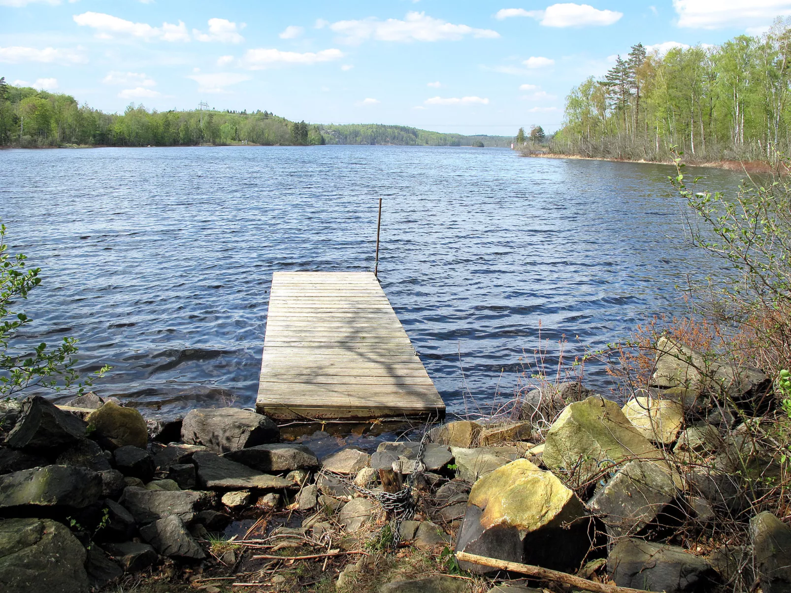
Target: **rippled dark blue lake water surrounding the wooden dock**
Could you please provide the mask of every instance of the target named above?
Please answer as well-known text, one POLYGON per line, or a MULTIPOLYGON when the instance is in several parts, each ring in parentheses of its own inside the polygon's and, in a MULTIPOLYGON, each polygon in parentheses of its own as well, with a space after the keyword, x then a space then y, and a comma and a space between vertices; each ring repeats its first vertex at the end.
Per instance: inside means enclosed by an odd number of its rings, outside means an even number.
POLYGON ((573 356, 683 311, 676 285, 709 270, 683 247, 670 172, 507 149, 6 150, 0 216, 44 268, 28 338, 78 337, 82 368, 113 366, 100 395, 167 414, 252 406, 272 272, 371 269, 384 198, 382 286, 460 410, 464 391, 513 391, 539 322, 573 356))

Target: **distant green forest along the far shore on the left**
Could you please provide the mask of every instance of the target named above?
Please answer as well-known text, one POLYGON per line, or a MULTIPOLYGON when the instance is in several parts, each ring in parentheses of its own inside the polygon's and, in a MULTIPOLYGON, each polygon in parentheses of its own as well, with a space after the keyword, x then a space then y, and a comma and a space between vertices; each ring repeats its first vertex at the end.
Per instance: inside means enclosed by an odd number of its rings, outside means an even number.
POLYGON ((440 134, 405 126, 323 126, 269 111, 156 111, 130 104, 104 113, 73 96, 6 84, 0 78, 0 146, 195 146, 395 144, 508 146, 502 136, 440 134))

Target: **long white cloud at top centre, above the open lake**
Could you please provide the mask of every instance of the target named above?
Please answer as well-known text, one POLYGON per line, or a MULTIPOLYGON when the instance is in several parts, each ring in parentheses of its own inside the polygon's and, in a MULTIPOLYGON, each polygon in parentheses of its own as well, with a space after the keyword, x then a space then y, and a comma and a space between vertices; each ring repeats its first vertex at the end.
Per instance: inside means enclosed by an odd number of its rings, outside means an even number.
POLYGON ((388 18, 366 18, 361 21, 338 21, 330 25, 332 31, 343 36, 344 43, 379 41, 456 41, 464 36, 494 38, 500 34, 488 28, 453 25, 441 19, 426 17, 426 13, 409 12, 403 21, 388 18))

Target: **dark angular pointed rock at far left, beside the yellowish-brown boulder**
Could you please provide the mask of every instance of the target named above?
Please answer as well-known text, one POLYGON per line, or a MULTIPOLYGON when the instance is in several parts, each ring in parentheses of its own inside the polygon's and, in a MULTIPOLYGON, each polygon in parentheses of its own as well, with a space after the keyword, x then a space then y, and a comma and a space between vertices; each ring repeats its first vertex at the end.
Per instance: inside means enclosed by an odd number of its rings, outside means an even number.
POLYGON ((7 443, 15 449, 59 451, 85 438, 88 425, 63 412, 40 395, 25 398, 17 424, 7 443))

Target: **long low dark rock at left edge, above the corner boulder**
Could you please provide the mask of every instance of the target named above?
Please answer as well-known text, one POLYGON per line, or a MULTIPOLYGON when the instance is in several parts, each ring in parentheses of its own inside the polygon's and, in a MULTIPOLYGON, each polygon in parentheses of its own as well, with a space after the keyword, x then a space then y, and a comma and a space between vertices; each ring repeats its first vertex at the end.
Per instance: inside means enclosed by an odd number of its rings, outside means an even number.
POLYGON ((100 475, 85 467, 44 466, 0 476, 0 508, 21 504, 82 508, 99 500, 100 475))

